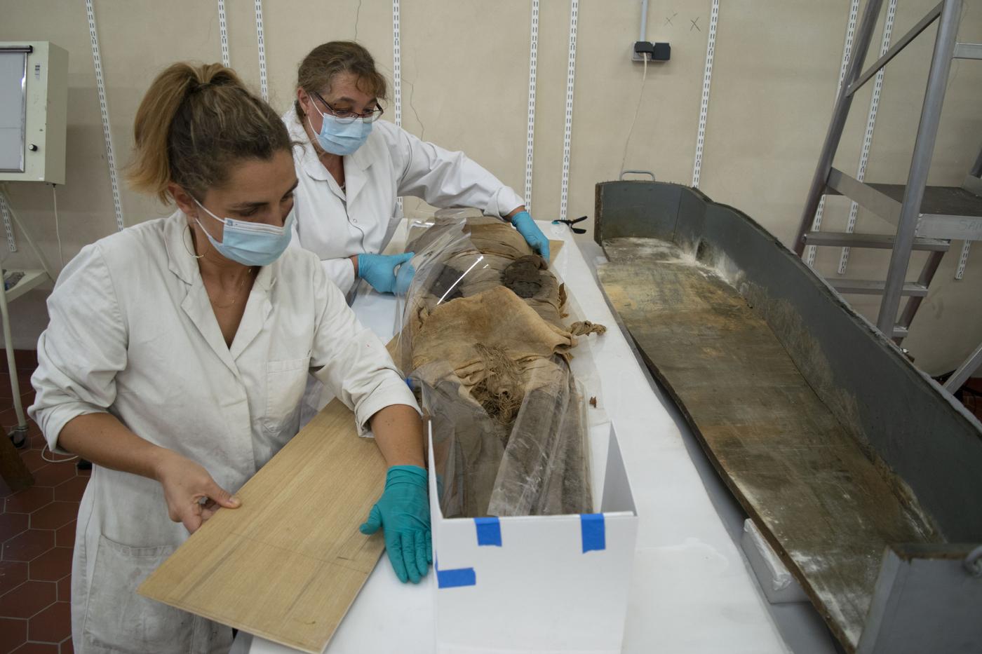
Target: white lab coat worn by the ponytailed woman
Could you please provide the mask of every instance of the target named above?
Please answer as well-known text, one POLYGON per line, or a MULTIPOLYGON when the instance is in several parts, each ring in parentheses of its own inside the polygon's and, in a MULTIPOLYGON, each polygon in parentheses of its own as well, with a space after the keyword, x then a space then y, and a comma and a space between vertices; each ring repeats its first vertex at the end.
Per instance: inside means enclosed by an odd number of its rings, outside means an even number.
MULTIPOLYGON (((355 410, 359 433, 379 409, 415 407, 383 344, 301 249, 256 274, 229 348, 186 221, 178 211, 87 245, 59 277, 29 409, 52 450, 69 420, 108 411, 234 493, 297 433, 308 371, 355 410)), ((93 467, 72 566, 77 652, 228 650, 229 628, 136 594, 187 538, 159 483, 93 467)))

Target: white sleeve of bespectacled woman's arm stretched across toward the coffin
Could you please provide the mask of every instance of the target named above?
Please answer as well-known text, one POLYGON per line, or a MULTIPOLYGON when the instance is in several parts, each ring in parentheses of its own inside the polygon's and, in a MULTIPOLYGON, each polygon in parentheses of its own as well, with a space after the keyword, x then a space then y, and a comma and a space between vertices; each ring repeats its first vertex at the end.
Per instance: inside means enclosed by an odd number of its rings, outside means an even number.
POLYGON ((505 217, 525 201, 501 180, 467 158, 392 126, 393 161, 402 164, 399 194, 421 197, 438 207, 473 206, 505 217))

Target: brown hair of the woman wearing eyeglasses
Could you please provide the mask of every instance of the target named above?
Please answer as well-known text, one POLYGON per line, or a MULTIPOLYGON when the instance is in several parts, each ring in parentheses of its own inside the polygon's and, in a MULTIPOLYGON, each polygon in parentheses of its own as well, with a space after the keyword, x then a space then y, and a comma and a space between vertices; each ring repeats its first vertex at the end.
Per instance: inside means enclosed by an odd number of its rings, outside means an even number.
MULTIPOLYGON (((357 78, 358 89, 380 100, 389 92, 385 78, 375 69, 371 53, 355 41, 331 41, 310 51, 297 71, 297 87, 306 92, 330 88, 334 76, 351 73, 357 78)), ((294 101, 298 118, 303 118, 300 101, 294 101)))

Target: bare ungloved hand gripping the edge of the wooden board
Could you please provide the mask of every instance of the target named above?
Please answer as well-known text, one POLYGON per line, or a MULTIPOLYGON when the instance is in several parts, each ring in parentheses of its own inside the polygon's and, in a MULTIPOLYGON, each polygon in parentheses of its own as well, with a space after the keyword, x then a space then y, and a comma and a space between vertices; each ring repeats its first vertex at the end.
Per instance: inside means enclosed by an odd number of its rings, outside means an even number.
POLYGON ((165 451, 155 466, 155 474, 164 487, 167 514, 175 522, 183 522, 191 533, 219 508, 242 506, 239 498, 215 483, 206 469, 173 451, 165 451))

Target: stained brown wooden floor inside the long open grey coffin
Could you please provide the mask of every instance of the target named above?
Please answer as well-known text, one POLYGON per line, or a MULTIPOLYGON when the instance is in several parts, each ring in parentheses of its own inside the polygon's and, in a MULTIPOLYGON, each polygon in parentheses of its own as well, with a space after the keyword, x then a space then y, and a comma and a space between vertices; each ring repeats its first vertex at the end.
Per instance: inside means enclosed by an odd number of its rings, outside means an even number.
POLYGON ((829 627, 854 650, 885 547, 937 537, 733 288, 675 245, 612 245, 605 243, 612 260, 598 276, 649 369, 829 627))

